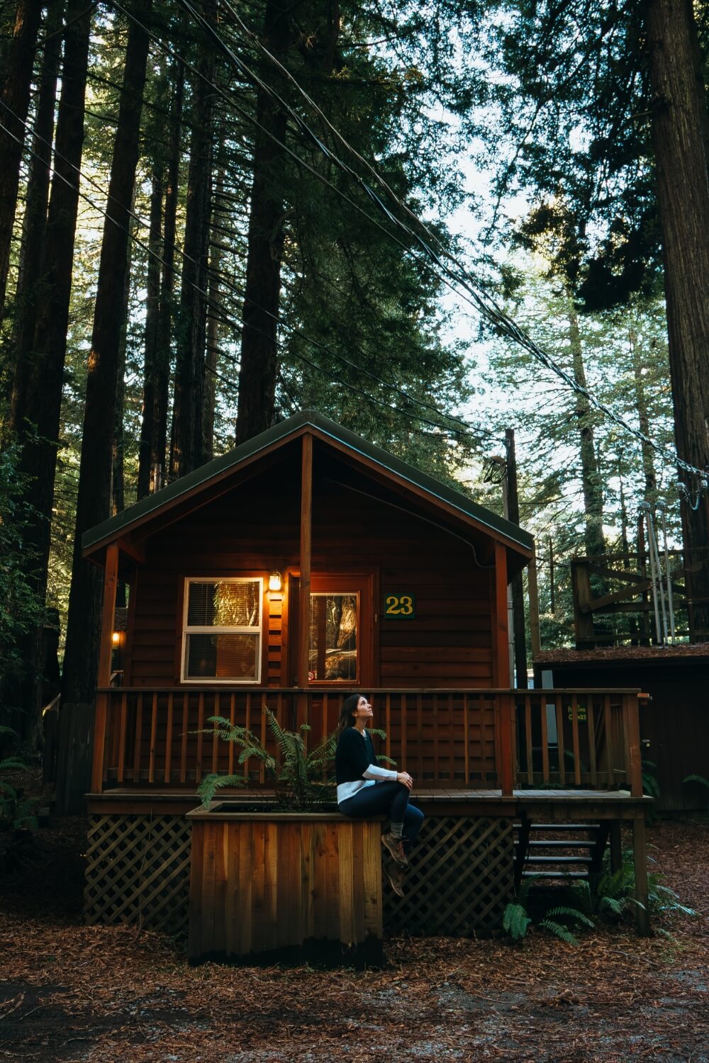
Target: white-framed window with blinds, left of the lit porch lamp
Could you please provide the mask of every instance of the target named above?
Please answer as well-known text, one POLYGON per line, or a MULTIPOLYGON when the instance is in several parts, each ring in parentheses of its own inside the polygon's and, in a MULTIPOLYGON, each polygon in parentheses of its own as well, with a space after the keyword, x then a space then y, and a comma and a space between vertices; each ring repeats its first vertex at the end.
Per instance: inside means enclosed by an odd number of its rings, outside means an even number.
POLYGON ((186 579, 183 682, 258 682, 261 579, 186 579))

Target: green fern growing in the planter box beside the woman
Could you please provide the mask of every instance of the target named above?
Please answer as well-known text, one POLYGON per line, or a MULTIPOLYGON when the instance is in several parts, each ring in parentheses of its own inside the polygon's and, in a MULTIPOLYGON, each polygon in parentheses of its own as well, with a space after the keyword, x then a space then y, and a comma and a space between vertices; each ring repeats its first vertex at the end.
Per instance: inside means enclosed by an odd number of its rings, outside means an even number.
MULTIPOLYGON (((316 748, 306 749, 303 733, 310 729, 307 724, 301 725, 300 732, 286 730, 266 705, 264 715, 277 756, 273 756, 253 731, 235 726, 224 716, 209 716, 208 722, 214 724, 214 728, 202 733, 216 733, 221 741, 235 745, 240 750, 239 764, 244 765, 249 760, 263 764, 266 781, 275 792, 277 808, 302 811, 332 802, 334 784, 328 773, 335 757, 335 737, 331 735, 316 748)), ((208 808, 218 790, 248 787, 249 781, 246 772, 239 775, 212 774, 202 780, 197 793, 203 806, 208 808)))

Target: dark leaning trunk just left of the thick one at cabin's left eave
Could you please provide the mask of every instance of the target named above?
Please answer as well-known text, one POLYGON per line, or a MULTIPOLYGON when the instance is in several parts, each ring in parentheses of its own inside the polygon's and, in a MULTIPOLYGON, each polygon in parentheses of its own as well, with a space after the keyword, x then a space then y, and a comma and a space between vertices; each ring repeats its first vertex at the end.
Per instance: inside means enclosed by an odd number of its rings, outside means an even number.
MULTIPOLYGON (((69 0, 62 66, 62 92, 56 122, 54 173, 52 176, 47 235, 41 266, 41 298, 31 373, 27 385, 26 414, 36 435, 24 436, 21 471, 28 476, 28 502, 33 520, 26 535, 27 574, 44 601, 51 538, 54 474, 56 471, 62 378, 69 323, 71 268, 79 204, 79 175, 84 142, 84 92, 88 60, 90 9, 85 0, 69 0)), ((23 420, 18 421, 24 434, 23 420)), ((28 731, 34 732, 41 680, 39 641, 23 646, 24 676, 19 704, 28 731)))

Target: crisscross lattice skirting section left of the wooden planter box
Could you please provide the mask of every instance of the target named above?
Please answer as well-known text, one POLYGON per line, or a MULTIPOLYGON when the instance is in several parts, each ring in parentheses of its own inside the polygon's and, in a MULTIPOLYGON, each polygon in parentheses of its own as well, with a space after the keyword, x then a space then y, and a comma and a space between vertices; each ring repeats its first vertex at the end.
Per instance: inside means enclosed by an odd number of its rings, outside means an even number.
POLYGON ((190 826, 182 815, 94 815, 84 918, 187 931, 190 826))

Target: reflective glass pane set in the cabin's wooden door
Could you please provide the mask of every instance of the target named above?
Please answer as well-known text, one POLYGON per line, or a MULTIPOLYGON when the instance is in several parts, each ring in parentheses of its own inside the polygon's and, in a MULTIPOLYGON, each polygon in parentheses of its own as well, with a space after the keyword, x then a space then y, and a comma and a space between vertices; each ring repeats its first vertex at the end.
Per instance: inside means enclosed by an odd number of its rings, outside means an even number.
POLYGON ((308 679, 357 681, 357 606, 356 592, 310 594, 308 679))

